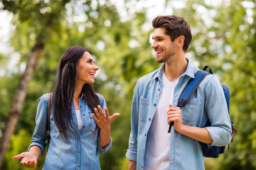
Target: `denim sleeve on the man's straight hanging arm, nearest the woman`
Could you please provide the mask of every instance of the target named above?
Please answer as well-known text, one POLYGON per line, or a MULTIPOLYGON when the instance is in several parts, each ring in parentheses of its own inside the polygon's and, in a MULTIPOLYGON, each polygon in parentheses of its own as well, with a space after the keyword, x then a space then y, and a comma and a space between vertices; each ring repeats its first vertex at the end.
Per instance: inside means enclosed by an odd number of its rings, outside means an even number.
POLYGON ((137 161, 137 140, 138 140, 138 119, 139 119, 139 98, 140 98, 140 83, 136 83, 131 108, 131 133, 129 137, 129 147, 126 153, 126 158, 131 161, 137 161))

